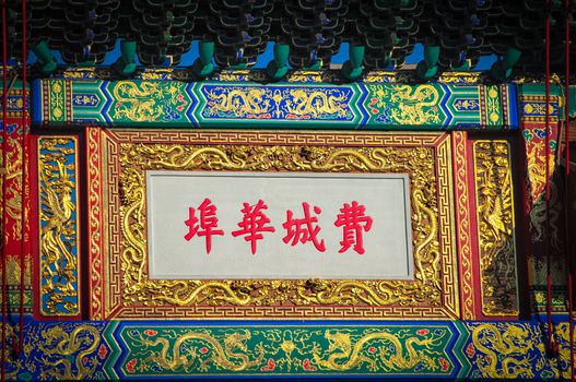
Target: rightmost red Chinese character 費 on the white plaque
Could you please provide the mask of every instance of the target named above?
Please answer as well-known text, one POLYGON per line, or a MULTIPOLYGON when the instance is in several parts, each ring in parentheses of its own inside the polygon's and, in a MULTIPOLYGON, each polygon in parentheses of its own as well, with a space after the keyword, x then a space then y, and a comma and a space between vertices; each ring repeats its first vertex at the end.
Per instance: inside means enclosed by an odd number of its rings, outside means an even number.
POLYGON ((340 214, 337 215, 334 226, 342 227, 342 248, 339 253, 348 251, 354 244, 354 251, 360 254, 364 253, 362 230, 366 232, 372 228, 372 217, 365 215, 366 207, 358 202, 353 201, 352 204, 344 203, 340 208, 340 214))

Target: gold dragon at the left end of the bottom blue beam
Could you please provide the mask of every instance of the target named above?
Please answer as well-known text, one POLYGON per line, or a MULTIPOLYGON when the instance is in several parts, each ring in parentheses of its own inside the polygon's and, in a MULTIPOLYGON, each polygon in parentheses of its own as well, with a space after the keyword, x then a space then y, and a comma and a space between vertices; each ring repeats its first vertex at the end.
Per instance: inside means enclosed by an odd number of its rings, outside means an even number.
POLYGON ((96 327, 79 325, 67 333, 62 326, 57 325, 47 329, 43 337, 37 346, 44 353, 43 358, 45 366, 49 367, 47 368, 49 377, 62 381, 85 380, 93 377, 97 363, 85 361, 101 343, 101 334, 96 327), (51 357, 56 360, 50 359, 51 357))

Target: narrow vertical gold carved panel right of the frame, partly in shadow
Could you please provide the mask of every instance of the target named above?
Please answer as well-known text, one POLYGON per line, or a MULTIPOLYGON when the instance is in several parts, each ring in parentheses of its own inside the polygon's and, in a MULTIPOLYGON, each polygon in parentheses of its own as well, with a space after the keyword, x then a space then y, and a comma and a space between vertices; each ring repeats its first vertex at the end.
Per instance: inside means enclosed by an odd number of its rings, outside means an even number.
POLYGON ((474 142, 482 309, 518 314, 514 205, 508 143, 474 142))

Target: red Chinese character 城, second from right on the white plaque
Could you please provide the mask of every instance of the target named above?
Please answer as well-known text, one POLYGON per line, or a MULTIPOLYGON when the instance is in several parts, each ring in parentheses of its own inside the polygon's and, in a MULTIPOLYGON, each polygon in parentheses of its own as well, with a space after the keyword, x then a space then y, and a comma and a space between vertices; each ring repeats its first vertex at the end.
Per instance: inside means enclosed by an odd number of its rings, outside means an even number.
MULTIPOLYGON (((311 241, 318 251, 326 251, 324 239, 318 242, 317 238, 317 235, 320 231, 320 227, 316 225, 316 223, 318 223, 318 217, 310 217, 310 205, 308 203, 303 202, 302 207, 304 210, 304 218, 302 219, 293 218, 292 211, 286 211, 286 222, 282 225, 282 227, 286 228, 286 236, 282 240, 285 243, 292 240, 292 247, 296 246, 298 240, 302 243, 311 241)), ((322 211, 320 207, 314 206, 315 214, 319 214, 322 211)))

